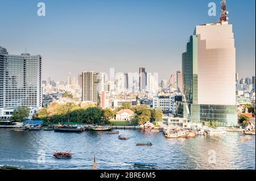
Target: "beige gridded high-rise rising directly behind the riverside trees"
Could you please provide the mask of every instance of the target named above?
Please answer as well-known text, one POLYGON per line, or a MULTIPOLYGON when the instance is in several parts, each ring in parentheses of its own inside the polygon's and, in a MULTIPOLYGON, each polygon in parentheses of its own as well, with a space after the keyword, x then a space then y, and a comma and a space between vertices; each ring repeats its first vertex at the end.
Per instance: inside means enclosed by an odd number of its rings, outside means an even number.
POLYGON ((94 71, 82 72, 82 101, 90 101, 97 104, 100 101, 101 75, 94 71))

